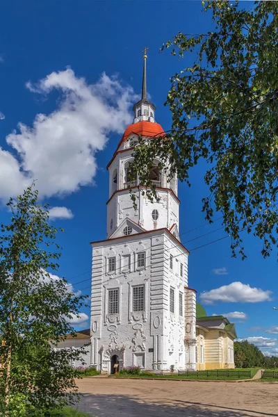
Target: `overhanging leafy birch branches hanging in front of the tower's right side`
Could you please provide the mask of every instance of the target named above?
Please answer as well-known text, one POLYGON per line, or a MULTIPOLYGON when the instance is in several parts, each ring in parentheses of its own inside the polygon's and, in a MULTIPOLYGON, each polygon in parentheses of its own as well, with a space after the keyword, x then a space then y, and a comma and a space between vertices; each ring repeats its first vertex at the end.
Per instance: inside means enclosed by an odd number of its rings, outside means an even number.
POLYGON ((133 170, 154 195, 148 173, 155 157, 170 178, 177 172, 188 184, 190 168, 203 159, 206 220, 222 212, 233 256, 245 257, 244 230, 269 256, 278 223, 278 2, 257 1, 249 10, 237 2, 202 3, 215 30, 178 33, 163 44, 179 59, 193 54, 195 63, 172 76, 165 103, 172 129, 149 142, 140 138, 133 170))

